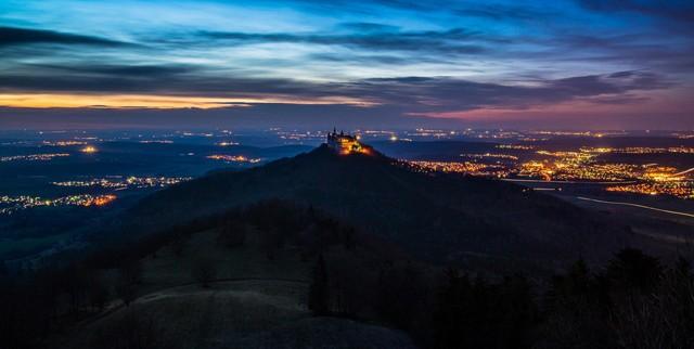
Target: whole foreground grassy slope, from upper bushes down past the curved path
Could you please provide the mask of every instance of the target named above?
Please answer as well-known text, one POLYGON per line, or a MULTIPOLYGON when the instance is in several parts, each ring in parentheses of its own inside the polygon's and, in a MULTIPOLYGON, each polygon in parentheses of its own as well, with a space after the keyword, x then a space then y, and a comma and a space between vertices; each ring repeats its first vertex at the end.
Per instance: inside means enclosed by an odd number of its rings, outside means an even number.
MULTIPOLYGON (((338 258, 340 253, 329 255, 338 258)), ((151 319, 166 348, 413 348, 397 331, 312 318, 307 294, 313 261, 303 261, 298 248, 281 249, 268 259, 254 235, 242 247, 227 248, 211 230, 193 234, 182 254, 172 246, 160 248, 142 267, 143 283, 130 306, 114 300, 61 347, 90 348, 94 338, 131 319, 151 319), (208 288, 191 275, 201 258, 217 269, 208 288)))

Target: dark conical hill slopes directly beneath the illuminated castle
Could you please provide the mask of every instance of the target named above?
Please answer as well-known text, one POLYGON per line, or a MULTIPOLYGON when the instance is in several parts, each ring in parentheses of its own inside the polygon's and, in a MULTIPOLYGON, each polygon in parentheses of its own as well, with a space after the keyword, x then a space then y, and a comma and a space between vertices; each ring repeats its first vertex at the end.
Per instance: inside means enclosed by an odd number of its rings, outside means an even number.
POLYGON ((416 172, 381 154, 340 156, 325 145, 244 171, 216 172, 157 192, 121 218, 151 232, 261 199, 321 208, 425 260, 602 260, 626 229, 515 184, 416 172))

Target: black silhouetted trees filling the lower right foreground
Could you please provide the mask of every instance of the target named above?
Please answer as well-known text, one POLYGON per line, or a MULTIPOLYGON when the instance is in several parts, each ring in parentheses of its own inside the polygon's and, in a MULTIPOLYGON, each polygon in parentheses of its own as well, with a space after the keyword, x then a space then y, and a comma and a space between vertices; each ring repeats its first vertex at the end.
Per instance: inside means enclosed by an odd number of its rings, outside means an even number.
POLYGON ((454 268, 382 266, 374 274, 320 256, 308 305, 319 316, 376 320, 422 348, 694 348, 694 275, 641 250, 604 268, 576 261, 544 282, 454 268), (355 274, 361 274, 355 283, 355 274))

